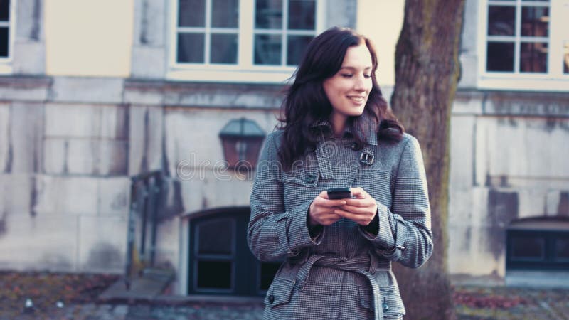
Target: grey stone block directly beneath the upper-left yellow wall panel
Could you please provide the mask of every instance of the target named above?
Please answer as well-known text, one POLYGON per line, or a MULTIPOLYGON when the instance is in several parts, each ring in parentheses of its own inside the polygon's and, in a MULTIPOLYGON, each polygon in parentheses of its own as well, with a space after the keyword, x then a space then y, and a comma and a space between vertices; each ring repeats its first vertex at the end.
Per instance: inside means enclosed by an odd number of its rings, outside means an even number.
POLYGON ((53 102, 122 102, 122 78, 55 77, 50 92, 53 102))

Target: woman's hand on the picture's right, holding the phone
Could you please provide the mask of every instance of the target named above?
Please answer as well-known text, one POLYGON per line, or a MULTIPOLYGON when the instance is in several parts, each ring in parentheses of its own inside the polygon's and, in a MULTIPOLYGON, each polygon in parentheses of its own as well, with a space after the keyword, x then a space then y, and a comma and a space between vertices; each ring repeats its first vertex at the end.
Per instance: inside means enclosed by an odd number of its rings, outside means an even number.
POLYGON ((378 212, 376 199, 362 188, 350 188, 353 199, 345 199, 346 204, 334 210, 334 213, 358 223, 369 225, 378 212))

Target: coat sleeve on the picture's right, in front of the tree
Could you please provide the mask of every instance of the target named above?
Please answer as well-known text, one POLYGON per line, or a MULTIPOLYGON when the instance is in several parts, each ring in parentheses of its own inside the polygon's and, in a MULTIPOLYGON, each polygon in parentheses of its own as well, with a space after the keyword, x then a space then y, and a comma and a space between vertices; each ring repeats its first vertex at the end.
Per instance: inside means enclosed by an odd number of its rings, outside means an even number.
POLYGON ((361 230, 379 255, 407 267, 420 267, 432 254, 427 178, 417 139, 406 135, 395 176, 391 208, 377 203, 377 235, 361 230))

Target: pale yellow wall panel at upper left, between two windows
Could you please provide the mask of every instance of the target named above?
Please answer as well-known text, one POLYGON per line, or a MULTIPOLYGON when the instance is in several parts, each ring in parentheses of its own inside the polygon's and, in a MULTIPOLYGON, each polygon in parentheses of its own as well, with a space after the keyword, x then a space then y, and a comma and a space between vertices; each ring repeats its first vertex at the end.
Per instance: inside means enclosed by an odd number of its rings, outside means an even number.
POLYGON ((128 77, 134 0, 46 0, 46 73, 128 77))

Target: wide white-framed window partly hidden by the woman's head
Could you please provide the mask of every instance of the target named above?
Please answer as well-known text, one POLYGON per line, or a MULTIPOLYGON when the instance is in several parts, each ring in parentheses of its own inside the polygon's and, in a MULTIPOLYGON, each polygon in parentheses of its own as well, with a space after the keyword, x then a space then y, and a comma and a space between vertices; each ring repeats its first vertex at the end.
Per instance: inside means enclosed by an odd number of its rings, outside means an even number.
POLYGON ((323 0, 173 0, 170 79, 284 82, 321 31, 323 0))

